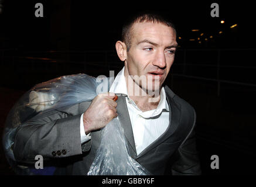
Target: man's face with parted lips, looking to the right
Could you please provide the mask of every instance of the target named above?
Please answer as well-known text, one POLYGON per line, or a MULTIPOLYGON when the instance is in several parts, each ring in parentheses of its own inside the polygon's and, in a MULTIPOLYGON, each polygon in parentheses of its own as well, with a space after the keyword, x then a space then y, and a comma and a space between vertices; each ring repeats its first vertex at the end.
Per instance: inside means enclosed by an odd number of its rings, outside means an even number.
MULTIPOLYGON (((162 86, 173 64, 177 47, 176 33, 172 27, 162 23, 134 23, 132 26, 131 48, 127 52, 125 61, 126 74, 146 77, 147 84, 155 82, 162 86)), ((135 83, 143 89, 142 81, 134 79, 135 83)))

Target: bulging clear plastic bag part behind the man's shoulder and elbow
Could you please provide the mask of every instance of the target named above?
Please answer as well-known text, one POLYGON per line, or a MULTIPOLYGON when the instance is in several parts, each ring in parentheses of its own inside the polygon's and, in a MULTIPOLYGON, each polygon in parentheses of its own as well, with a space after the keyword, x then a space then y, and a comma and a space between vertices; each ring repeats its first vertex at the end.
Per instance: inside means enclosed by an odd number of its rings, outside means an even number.
MULTIPOLYGON (((17 174, 33 175, 35 169, 16 163, 12 146, 18 127, 44 112, 91 101, 97 95, 95 88, 99 84, 96 78, 86 74, 62 76, 35 85, 15 103, 6 117, 2 143, 5 156, 17 174)), ((35 173, 38 174, 38 171, 35 173)))

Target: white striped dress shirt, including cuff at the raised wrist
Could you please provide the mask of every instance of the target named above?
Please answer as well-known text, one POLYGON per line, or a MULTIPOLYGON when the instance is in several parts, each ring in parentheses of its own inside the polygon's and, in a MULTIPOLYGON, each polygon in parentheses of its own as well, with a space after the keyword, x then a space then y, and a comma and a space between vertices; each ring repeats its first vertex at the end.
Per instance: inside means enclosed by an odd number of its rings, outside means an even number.
MULTIPOLYGON (((136 152, 139 155, 139 153, 161 136, 169 126, 169 105, 166 101, 165 89, 161 89, 160 101, 157 108, 142 112, 127 94, 124 68, 122 68, 111 85, 109 92, 127 95, 125 98, 134 134, 136 152)), ((83 114, 81 115, 80 132, 81 143, 90 140, 90 134, 86 135, 84 133, 83 114)))

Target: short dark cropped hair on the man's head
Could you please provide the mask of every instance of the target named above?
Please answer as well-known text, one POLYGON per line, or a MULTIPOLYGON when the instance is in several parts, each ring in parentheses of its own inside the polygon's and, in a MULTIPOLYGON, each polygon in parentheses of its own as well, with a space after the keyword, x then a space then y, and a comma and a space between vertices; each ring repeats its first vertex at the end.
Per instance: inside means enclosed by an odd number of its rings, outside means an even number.
POLYGON ((172 27, 176 32, 175 26, 172 23, 172 21, 166 18, 165 16, 160 15, 159 13, 155 13, 155 12, 136 13, 135 15, 125 20, 124 25, 122 26, 121 40, 126 44, 127 51, 129 51, 129 49, 131 48, 132 25, 134 23, 143 23, 143 22, 162 23, 166 26, 172 27))

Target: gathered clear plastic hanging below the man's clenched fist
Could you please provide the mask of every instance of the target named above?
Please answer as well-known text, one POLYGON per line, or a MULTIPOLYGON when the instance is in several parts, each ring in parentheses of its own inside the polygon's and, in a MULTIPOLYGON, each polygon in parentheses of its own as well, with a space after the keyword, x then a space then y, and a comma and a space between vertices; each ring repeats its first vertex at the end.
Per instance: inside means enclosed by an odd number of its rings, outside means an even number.
POLYGON ((103 129, 103 137, 88 175, 150 175, 128 154, 128 144, 118 117, 103 129))

